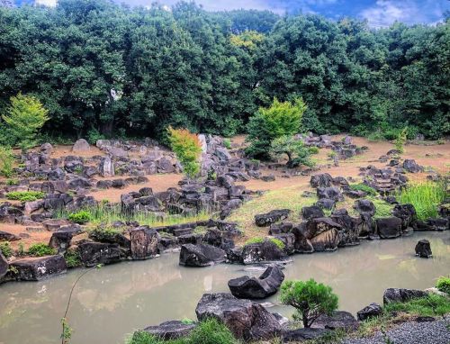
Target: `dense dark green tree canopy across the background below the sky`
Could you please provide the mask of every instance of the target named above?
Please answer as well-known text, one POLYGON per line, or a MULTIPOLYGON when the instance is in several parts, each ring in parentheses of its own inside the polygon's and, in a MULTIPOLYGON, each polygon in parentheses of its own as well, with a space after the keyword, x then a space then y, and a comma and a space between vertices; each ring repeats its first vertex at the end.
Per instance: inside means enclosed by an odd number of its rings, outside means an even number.
POLYGON ((230 135, 274 97, 302 96, 305 130, 408 125, 437 138, 450 133, 449 45, 448 20, 374 31, 184 2, 0 8, 0 113, 22 92, 49 110, 49 134, 157 137, 173 125, 230 135))

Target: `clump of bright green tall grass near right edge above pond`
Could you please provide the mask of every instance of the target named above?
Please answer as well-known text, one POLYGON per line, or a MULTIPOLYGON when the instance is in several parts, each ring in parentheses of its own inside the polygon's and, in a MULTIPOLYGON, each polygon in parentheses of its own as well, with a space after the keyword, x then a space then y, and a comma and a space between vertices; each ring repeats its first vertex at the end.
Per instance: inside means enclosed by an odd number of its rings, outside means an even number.
POLYGON ((437 206, 446 198, 446 183, 421 182, 411 184, 397 193, 400 204, 412 204, 419 220, 438 216, 437 206))

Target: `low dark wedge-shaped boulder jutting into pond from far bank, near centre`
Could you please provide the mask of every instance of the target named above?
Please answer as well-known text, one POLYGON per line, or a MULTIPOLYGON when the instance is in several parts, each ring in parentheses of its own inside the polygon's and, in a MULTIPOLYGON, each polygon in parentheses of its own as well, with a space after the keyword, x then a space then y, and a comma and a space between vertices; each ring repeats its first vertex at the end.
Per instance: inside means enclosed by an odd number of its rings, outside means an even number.
POLYGON ((208 244, 185 244, 181 247, 179 263, 184 267, 208 267, 225 261, 225 256, 223 249, 208 244))

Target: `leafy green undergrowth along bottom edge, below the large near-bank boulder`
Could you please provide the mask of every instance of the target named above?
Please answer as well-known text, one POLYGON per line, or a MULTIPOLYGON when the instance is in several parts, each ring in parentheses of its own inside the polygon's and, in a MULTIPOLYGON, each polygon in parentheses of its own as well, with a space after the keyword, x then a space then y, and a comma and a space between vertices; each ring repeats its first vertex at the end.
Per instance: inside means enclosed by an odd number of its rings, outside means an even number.
POLYGON ((127 344, 241 344, 225 325, 215 319, 200 322, 185 338, 163 340, 141 330, 135 332, 126 342, 127 344))

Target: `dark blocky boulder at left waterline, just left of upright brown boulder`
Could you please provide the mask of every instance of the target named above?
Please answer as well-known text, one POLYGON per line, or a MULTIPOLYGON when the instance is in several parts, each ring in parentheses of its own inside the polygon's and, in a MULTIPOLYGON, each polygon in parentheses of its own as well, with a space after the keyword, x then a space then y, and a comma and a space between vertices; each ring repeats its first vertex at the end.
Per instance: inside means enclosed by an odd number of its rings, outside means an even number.
POLYGON ((85 267, 98 264, 108 265, 121 261, 121 249, 115 244, 102 242, 83 242, 78 245, 81 263, 85 267))

